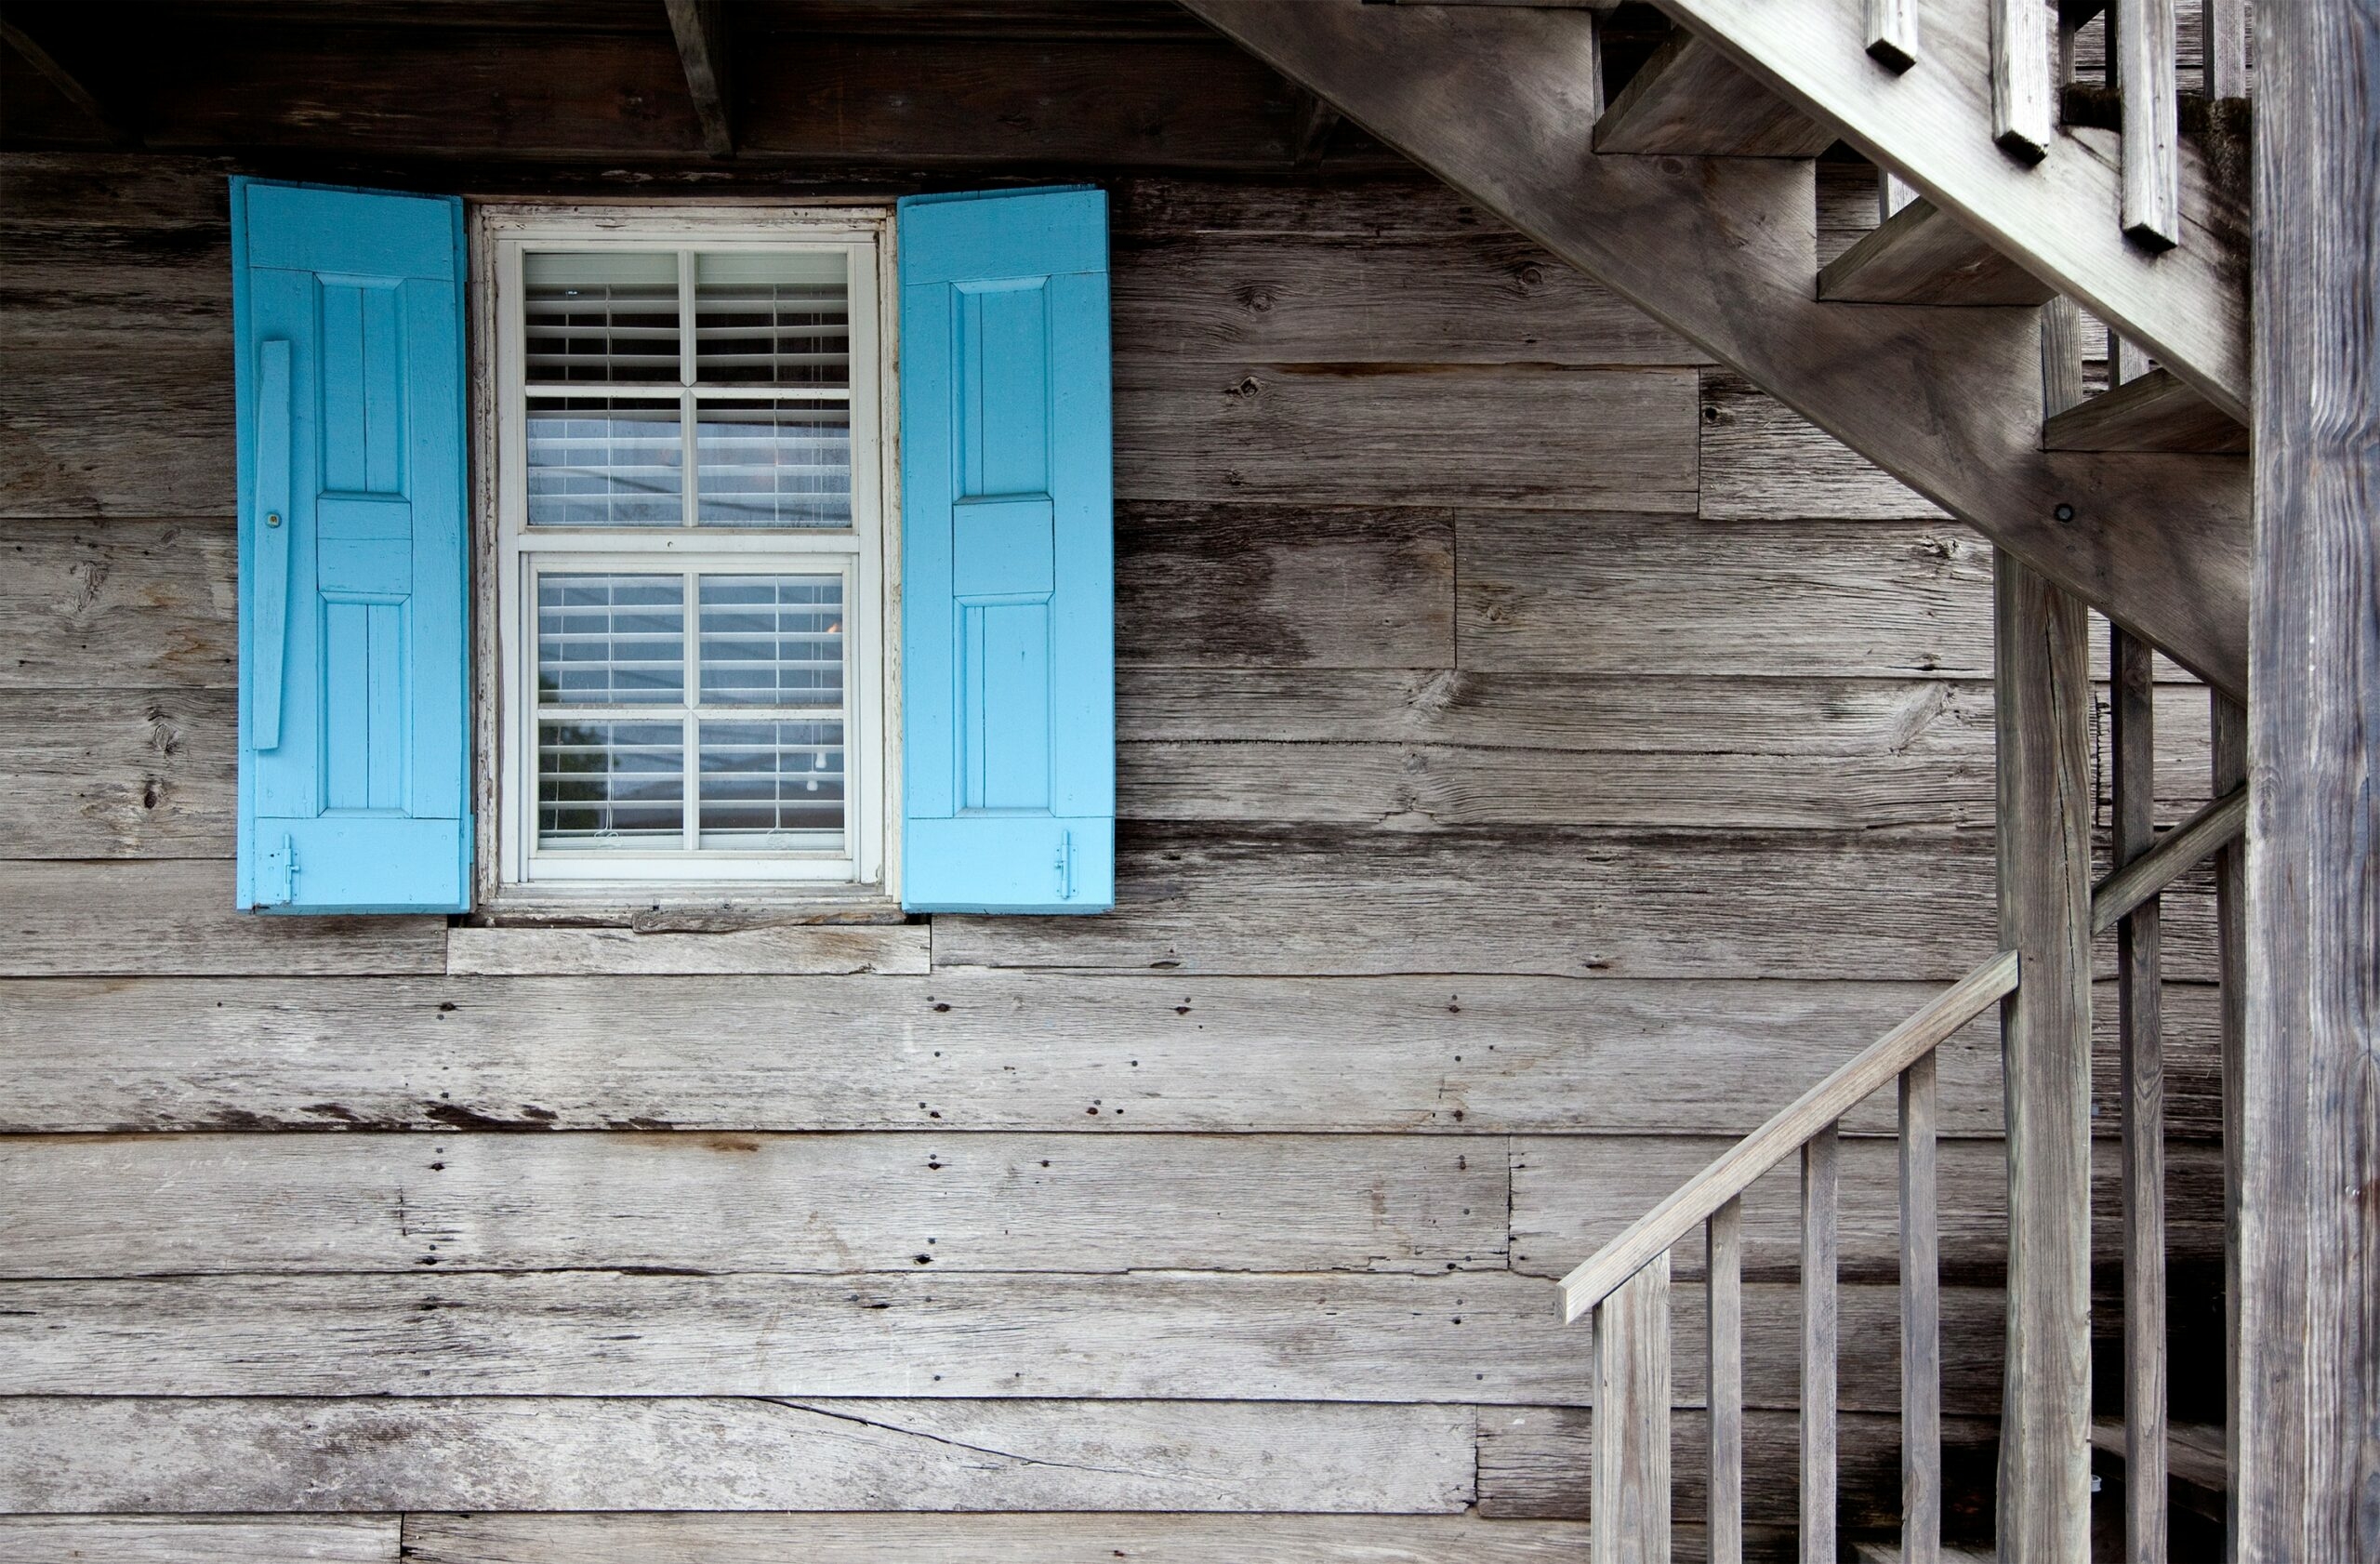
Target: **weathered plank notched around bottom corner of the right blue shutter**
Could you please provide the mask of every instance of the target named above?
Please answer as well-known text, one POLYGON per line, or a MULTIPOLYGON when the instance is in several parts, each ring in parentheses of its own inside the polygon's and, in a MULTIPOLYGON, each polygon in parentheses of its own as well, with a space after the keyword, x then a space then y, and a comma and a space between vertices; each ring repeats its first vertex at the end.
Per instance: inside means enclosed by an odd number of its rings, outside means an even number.
POLYGON ((1114 914, 938 916, 935 964, 1954 981, 1992 955, 1987 845, 1956 836, 1128 824, 1116 862, 1114 914))

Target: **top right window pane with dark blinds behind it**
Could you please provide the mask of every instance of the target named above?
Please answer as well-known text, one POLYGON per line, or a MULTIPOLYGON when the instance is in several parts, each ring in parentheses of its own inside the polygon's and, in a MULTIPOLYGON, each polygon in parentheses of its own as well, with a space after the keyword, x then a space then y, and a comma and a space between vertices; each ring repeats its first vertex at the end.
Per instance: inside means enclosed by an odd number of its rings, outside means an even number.
POLYGON ((850 264, 840 250, 695 257, 695 381, 850 386, 850 264))

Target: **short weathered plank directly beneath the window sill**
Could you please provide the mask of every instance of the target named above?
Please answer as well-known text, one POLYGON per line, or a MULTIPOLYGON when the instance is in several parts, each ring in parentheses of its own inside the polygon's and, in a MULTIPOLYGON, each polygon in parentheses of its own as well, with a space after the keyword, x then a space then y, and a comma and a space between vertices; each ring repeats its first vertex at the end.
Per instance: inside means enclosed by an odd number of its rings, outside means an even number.
POLYGON ((931 969, 923 924, 778 924, 719 933, 450 928, 450 974, 912 974, 931 969))

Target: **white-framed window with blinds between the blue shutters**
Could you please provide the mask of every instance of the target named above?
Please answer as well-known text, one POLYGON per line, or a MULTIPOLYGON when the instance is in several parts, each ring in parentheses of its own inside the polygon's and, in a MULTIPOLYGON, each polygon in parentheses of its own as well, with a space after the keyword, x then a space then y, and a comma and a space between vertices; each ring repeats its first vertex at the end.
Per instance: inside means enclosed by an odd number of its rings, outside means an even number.
POLYGON ((883 886, 883 214, 488 226, 497 881, 883 886))

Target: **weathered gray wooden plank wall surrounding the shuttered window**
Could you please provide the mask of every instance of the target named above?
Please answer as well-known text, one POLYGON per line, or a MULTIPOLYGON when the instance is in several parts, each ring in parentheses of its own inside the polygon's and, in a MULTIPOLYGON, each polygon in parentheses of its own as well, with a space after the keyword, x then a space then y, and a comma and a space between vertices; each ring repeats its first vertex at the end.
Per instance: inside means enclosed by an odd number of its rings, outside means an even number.
MULTIPOLYGON (((1576 1557, 1545 1278, 1992 945, 1983 545, 1435 186, 1119 179, 1111 916, 236 916, 224 169, 0 159, 0 1509, 112 1516, 0 1559, 1576 1557)), ((1987 1026, 1942 1126, 1973 1493, 1987 1026)), ((1890 1188, 1854 1138, 1854 1528, 1890 1188)), ((1787 1188, 1747 1245, 1773 1540, 1787 1188)))

